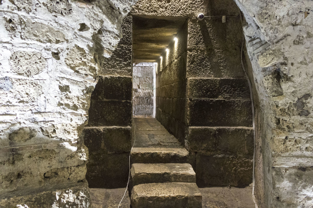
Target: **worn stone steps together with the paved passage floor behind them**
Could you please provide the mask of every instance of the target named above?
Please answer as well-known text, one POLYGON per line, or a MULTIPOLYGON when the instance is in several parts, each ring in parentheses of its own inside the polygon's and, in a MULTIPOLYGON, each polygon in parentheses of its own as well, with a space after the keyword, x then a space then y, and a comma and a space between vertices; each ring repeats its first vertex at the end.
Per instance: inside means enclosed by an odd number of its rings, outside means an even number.
POLYGON ((139 131, 131 152, 131 207, 201 208, 196 173, 186 163, 189 152, 155 118, 134 118, 134 122, 139 131))

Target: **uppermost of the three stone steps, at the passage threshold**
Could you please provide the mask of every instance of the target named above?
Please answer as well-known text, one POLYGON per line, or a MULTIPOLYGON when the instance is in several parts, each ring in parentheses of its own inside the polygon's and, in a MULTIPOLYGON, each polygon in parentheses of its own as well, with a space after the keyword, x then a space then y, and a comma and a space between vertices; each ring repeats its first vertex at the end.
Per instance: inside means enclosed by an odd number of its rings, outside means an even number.
POLYGON ((185 163, 189 152, 183 147, 134 147, 131 151, 133 163, 185 163))

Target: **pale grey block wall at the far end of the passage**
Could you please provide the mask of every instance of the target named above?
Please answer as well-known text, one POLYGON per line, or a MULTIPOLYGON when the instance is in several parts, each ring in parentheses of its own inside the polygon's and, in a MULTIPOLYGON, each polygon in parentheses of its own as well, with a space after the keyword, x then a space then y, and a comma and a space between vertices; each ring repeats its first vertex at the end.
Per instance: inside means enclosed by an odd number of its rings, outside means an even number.
POLYGON ((133 66, 133 115, 153 115, 153 63, 133 66))

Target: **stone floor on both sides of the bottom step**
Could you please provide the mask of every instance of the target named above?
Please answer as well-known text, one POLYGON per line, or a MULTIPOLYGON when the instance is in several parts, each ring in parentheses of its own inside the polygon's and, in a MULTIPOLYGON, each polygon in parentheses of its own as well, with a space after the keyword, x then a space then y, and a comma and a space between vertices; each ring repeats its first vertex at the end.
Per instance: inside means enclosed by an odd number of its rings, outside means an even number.
MULTIPOLYGON (((254 208, 252 187, 231 189, 226 187, 200 188, 203 208, 254 208)), ((117 208, 125 192, 119 189, 90 189, 94 208, 117 208)), ((130 199, 126 193, 120 208, 129 208, 130 199)))

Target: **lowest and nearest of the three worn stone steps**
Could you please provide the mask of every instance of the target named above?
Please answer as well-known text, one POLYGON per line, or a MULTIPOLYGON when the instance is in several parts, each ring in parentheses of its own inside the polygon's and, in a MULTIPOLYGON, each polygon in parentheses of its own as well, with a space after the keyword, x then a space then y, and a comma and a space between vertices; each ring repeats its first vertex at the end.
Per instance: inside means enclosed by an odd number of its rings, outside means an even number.
POLYGON ((131 191, 132 208, 201 208, 202 196, 195 183, 146 183, 131 191))

